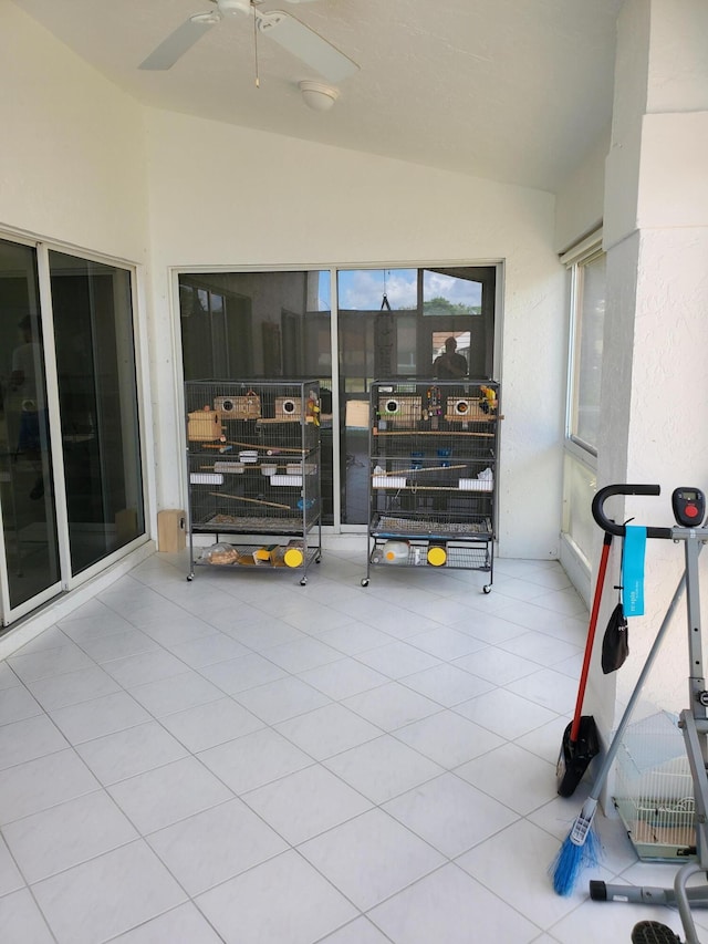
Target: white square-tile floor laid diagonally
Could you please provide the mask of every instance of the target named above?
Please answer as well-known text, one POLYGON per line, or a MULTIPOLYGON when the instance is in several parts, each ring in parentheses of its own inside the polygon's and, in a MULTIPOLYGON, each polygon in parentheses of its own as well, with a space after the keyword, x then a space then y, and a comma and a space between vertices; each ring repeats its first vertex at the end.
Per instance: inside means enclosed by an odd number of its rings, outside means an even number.
MULTIPOLYGON (((290 573, 155 556, 0 663, 3 944, 595 944, 666 909, 617 820, 546 873, 585 609, 552 562, 290 573)), ((704 924, 708 922, 707 919, 704 924)), ((707 936, 708 940, 708 936, 707 936)))

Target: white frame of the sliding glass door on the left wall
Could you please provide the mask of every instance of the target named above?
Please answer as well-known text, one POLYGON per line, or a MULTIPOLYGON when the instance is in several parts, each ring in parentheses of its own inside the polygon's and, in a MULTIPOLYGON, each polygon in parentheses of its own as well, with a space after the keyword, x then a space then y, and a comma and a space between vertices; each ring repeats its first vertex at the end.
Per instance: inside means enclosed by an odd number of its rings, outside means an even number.
MULTIPOLYGON (((10 587, 8 579, 8 560, 4 541, 0 541, 0 634, 10 630, 14 623, 29 615, 40 606, 55 600, 60 594, 70 592, 97 577, 108 567, 127 557, 137 548, 147 543, 155 533, 155 474, 148 457, 154 452, 154 437, 149 415, 149 365, 147 357, 147 325, 138 317, 144 310, 140 300, 145 298, 143 270, 140 267, 124 259, 90 252, 61 242, 31 239, 25 234, 13 232, 11 229, 0 230, 0 238, 19 246, 25 246, 37 252, 37 271, 39 287, 38 321, 41 326, 46 385, 46 403, 49 412, 49 458, 52 466, 54 483, 54 516, 58 533, 59 580, 50 587, 31 597, 19 605, 10 605, 10 587), (135 380, 137 397, 137 435, 140 442, 140 473, 143 481, 143 507, 145 510, 145 529, 128 543, 106 554, 101 560, 73 574, 71 567, 69 540, 69 508, 66 501, 64 457, 62 449, 61 412, 59 404, 59 377, 56 369, 54 341, 54 313, 52 309, 50 250, 74 256, 90 262, 124 269, 129 274, 131 283, 131 328, 135 352, 135 380)), ((2 530, 2 508, 0 507, 0 530, 2 530)))

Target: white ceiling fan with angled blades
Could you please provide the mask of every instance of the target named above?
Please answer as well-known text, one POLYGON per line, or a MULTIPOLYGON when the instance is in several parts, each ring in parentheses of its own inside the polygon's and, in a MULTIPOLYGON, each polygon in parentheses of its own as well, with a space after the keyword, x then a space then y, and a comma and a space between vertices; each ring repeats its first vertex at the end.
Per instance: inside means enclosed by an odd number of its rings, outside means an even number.
MULTIPOLYGON (((261 12, 263 0, 211 0, 214 10, 197 13, 170 33, 167 39, 140 63, 139 69, 166 70, 221 20, 231 17, 254 17, 256 28, 279 43, 330 82, 341 82, 353 75, 358 65, 300 20, 282 10, 261 12)), ((308 3, 311 0, 288 0, 289 3, 308 3)))

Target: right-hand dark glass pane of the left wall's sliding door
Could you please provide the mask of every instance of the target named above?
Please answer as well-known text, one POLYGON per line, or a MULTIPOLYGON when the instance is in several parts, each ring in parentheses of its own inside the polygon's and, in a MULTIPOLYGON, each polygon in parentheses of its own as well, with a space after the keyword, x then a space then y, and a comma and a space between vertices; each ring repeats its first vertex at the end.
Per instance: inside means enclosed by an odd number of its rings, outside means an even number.
POLYGON ((71 572, 145 531, 131 273, 49 253, 71 572))

